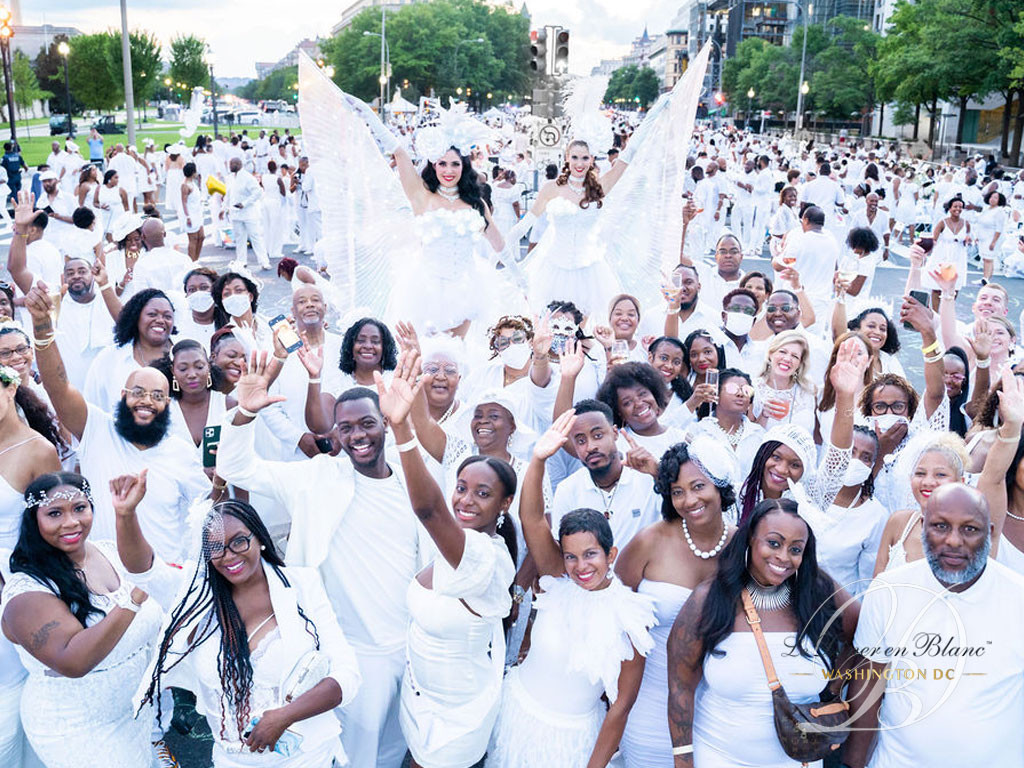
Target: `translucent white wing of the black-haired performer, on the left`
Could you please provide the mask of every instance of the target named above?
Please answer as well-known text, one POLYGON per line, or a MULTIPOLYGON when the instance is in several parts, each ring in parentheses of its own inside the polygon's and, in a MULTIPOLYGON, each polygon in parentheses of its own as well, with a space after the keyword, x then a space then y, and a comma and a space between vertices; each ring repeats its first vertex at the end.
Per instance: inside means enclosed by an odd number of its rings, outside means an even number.
POLYGON ((299 122, 316 178, 321 248, 343 317, 383 317, 399 254, 416 253, 413 210, 341 89, 299 54, 299 122))

